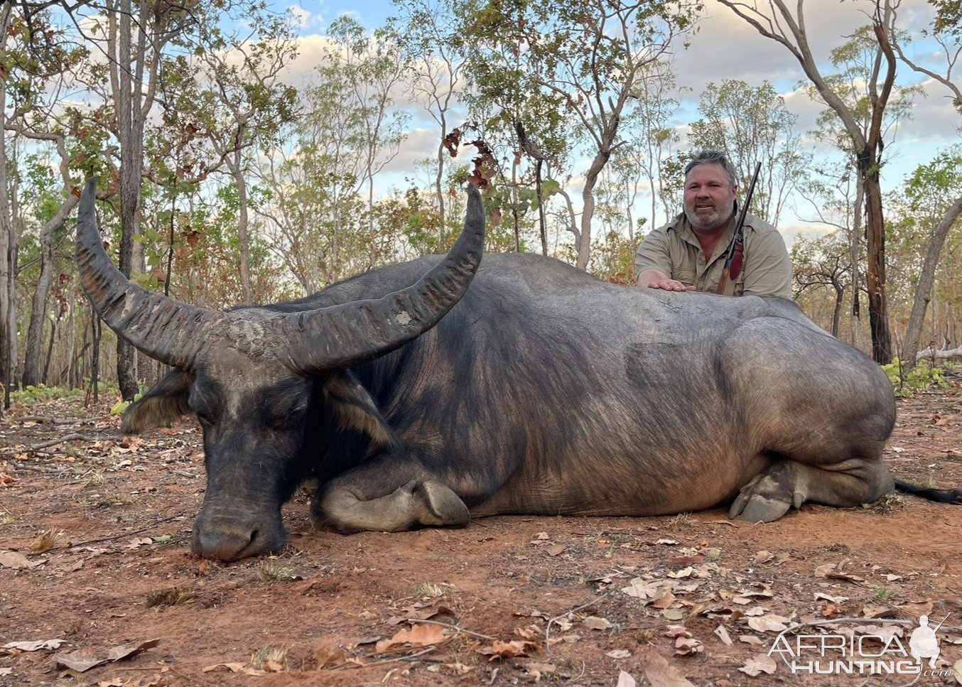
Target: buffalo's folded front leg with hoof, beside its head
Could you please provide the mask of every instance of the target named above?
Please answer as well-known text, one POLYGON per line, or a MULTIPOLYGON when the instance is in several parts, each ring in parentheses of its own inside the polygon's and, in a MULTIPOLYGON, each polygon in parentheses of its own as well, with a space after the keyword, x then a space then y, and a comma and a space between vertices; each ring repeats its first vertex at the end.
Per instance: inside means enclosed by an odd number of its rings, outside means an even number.
POLYGON ((461 526, 470 521, 468 506, 443 483, 412 479, 386 496, 368 497, 350 484, 321 489, 311 504, 316 526, 340 532, 396 532, 418 524, 461 526))

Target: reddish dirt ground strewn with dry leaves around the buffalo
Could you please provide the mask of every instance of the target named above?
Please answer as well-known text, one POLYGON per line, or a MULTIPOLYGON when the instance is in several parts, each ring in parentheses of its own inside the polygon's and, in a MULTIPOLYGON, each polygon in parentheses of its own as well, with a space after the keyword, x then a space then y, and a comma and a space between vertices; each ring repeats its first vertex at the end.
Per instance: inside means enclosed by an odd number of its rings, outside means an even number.
MULTIPOLYGON (((897 476, 962 485, 960 391, 899 401, 897 476)), ((302 495, 286 552, 221 564, 189 551, 195 423, 125 439, 108 408, 51 401, 0 421, 0 684, 897 685, 912 677, 792 674, 766 654, 786 626, 846 618, 862 620, 839 632, 895 628, 908 649, 924 614, 948 615, 937 668, 962 667, 957 506, 342 536, 312 529, 302 495), (10 645, 45 640, 61 642, 10 645)), ((831 631, 815 627, 799 631, 831 631)))

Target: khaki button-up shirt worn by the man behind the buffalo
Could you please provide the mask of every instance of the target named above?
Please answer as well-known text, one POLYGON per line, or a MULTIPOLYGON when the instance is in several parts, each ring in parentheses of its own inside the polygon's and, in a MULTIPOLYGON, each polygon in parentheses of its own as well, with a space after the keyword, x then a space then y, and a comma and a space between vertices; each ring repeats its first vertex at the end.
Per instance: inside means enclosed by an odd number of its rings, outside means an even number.
MULTIPOLYGON (((651 231, 635 254, 638 274, 660 269, 696 291, 715 293, 722 279, 724 258, 735 234, 735 217, 728 223, 711 260, 704 253, 684 214, 671 224, 651 231)), ((734 285, 729 281, 728 295, 778 295, 792 297, 792 261, 781 234, 764 219, 745 217, 745 244, 742 271, 734 285)))

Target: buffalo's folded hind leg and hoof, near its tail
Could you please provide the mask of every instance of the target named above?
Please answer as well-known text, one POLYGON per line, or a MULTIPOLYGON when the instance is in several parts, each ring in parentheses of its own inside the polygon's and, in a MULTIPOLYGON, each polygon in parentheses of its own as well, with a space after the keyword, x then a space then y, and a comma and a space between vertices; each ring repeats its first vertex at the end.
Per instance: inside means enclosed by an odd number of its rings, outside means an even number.
POLYGON ((805 501, 827 506, 856 506, 871 503, 892 488, 892 475, 880 460, 853 458, 823 468, 779 460, 742 487, 728 510, 728 517, 772 522, 805 501))

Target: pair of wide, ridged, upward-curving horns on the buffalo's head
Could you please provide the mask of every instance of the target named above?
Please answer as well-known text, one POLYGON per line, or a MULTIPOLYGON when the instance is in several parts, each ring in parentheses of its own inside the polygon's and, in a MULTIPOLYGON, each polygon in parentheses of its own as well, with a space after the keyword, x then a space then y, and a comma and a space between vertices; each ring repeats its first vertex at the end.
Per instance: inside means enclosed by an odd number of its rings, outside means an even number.
MULTIPOLYGON (((464 231, 443 260, 414 285, 377 299, 300 313, 222 313, 148 292, 114 267, 97 231, 96 186, 96 179, 91 178, 81 196, 77 222, 77 264, 84 290, 97 314, 119 336, 150 357, 180 369, 192 369, 212 337, 235 338, 234 333, 244 327, 233 326, 234 320, 242 325, 242 320, 250 317, 260 321, 256 331, 266 336, 249 343, 262 354, 276 351, 292 371, 312 373, 371 360, 437 324, 468 289, 484 250, 484 202, 480 192, 470 186, 464 231)), ((241 341, 233 343, 247 348, 241 341)), ((247 349, 253 352, 253 348, 247 349)))

